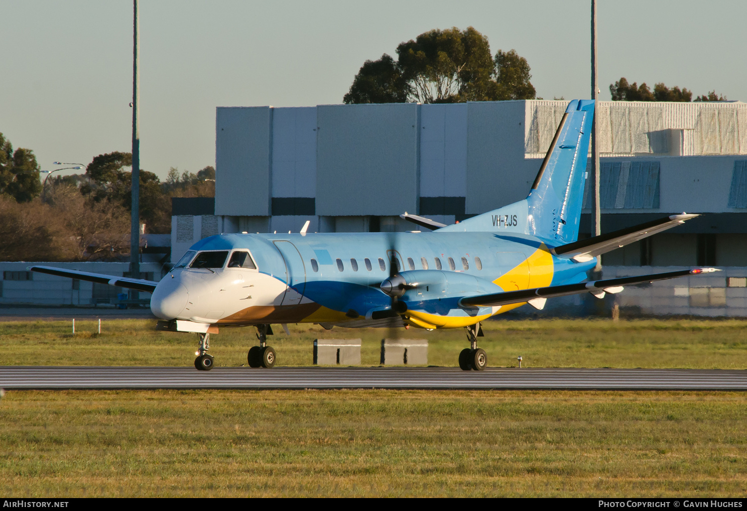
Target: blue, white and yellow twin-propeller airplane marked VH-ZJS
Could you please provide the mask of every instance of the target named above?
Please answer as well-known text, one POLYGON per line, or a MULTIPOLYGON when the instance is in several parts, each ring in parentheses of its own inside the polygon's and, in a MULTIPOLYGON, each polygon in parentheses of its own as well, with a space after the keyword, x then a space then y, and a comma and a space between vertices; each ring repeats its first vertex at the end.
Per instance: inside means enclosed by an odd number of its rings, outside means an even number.
POLYGON ((678 214, 577 241, 594 102, 574 100, 560 121, 529 196, 445 226, 401 217, 433 232, 222 234, 197 242, 160 282, 34 266, 31 270, 152 293, 158 329, 196 332, 195 367, 209 370, 209 335, 256 326, 251 367, 271 368, 270 323, 332 326, 463 327, 465 371, 486 368, 480 322, 550 297, 618 293, 624 285, 716 271, 698 268, 586 281, 598 255, 677 226, 678 214))

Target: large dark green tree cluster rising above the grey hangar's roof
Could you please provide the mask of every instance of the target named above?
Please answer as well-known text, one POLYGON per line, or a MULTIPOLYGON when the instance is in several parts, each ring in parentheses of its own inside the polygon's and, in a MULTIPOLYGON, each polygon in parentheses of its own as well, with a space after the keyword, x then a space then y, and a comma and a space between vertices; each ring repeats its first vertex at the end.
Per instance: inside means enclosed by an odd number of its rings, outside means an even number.
POLYGON ((450 103, 533 99, 530 67, 515 50, 492 57, 487 37, 472 27, 432 30, 397 46, 397 61, 366 61, 345 103, 450 103))

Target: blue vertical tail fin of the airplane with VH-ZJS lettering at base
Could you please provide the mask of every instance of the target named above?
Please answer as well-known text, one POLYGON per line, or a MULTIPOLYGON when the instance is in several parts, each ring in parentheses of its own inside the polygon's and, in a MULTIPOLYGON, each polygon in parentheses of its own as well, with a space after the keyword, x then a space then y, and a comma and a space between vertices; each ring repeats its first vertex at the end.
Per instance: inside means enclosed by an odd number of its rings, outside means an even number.
POLYGON ((593 117, 593 101, 568 103, 526 199, 439 230, 521 232, 551 245, 576 241, 593 117))

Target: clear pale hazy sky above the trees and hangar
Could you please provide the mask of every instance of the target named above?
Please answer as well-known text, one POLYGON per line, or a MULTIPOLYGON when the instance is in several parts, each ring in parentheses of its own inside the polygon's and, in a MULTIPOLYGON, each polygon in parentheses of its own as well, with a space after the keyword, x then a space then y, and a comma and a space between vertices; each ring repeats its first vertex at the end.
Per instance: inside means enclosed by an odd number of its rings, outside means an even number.
MULTIPOLYGON (((130 150, 132 2, 0 0, 0 131, 87 164, 130 150)), ((747 2, 599 1, 602 99, 630 81, 747 100, 747 2)), ((143 169, 215 161, 215 107, 342 102, 366 59, 431 28, 469 25, 516 49, 537 94, 586 98, 589 0, 140 1, 143 169)))

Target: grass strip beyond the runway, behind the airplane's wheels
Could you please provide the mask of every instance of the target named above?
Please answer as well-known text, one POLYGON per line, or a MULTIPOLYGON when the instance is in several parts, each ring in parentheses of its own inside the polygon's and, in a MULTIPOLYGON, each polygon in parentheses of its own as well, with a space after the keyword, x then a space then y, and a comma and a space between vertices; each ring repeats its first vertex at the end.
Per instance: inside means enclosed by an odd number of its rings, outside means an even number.
MULTIPOLYGON (((5 365, 182 365, 190 366, 196 334, 155 332, 153 320, 36 321, 0 323, 5 365)), ((269 344, 278 365, 311 365, 315 338, 362 338, 362 365, 379 365, 386 329, 322 329, 276 325, 269 344)), ((480 347, 492 366, 615 368, 747 368, 747 320, 497 320, 483 323, 480 347)), ((456 366, 468 347, 462 329, 398 331, 427 338, 430 365, 456 366)), ((221 329, 211 335, 216 365, 247 363, 257 344, 255 329, 221 329)))

